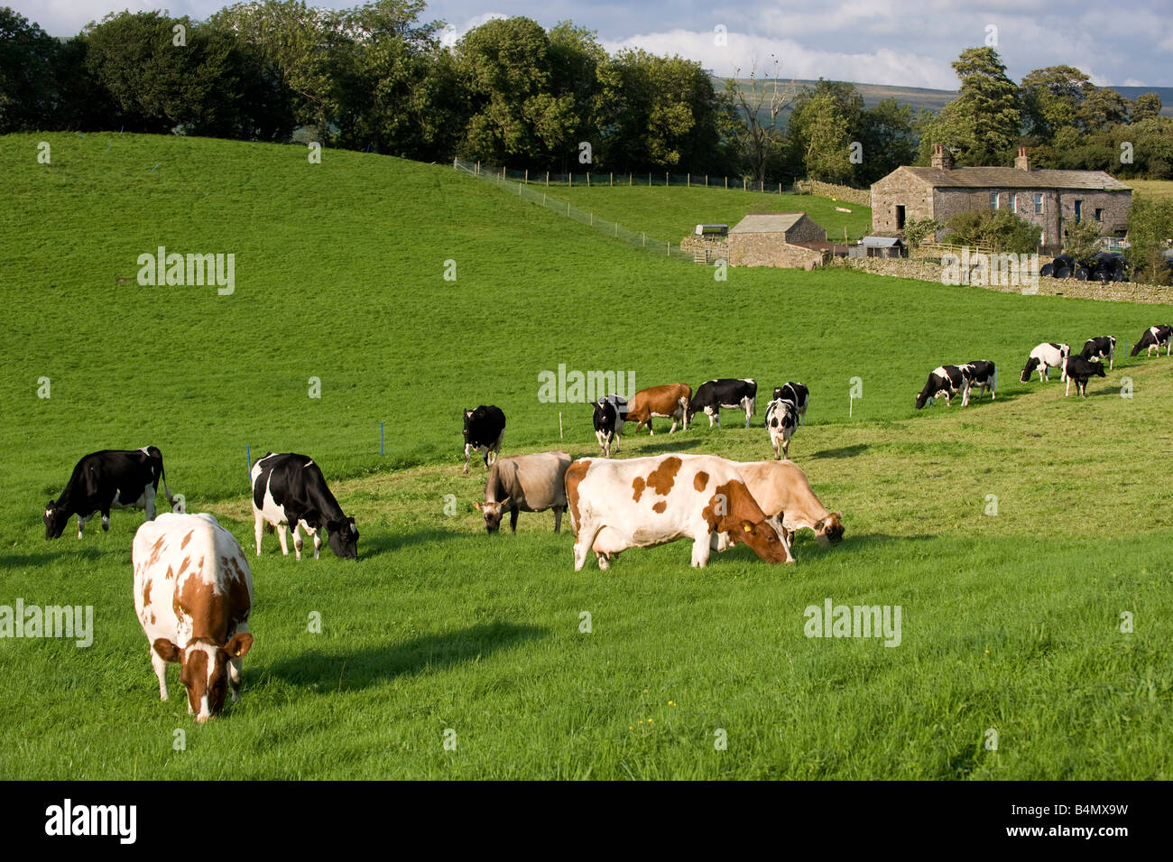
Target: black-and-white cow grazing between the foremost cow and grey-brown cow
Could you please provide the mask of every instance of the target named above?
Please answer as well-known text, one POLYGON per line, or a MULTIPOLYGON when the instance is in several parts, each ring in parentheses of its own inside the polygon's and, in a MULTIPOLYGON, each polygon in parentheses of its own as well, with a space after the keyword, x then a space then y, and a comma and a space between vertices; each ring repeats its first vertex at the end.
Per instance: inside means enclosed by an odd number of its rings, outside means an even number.
POLYGON ((343 507, 326 487, 321 469, 312 459, 293 453, 269 453, 252 466, 252 518, 260 556, 260 534, 267 523, 277 528, 282 554, 289 556, 285 528, 293 529, 293 554, 301 558, 301 534, 313 536, 313 558, 321 550, 321 527, 325 525, 330 550, 340 559, 359 556, 359 531, 354 518, 346 517, 343 507))

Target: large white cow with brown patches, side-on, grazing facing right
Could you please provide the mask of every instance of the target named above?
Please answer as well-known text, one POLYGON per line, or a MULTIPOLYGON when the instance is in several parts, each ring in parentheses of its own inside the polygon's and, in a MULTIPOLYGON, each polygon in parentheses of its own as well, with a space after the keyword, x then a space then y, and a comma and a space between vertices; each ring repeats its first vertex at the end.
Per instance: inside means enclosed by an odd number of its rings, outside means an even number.
POLYGON ((659 455, 626 461, 579 459, 567 470, 575 571, 594 550, 599 569, 628 548, 692 539, 692 565, 708 563, 713 534, 732 534, 767 563, 792 558, 745 481, 724 459, 659 455))

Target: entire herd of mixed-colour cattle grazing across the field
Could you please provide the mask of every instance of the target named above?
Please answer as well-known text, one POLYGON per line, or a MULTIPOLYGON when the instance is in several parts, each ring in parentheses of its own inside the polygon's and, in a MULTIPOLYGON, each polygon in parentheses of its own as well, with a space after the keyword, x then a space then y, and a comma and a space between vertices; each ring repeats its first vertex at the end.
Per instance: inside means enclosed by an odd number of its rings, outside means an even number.
MULTIPOLYGON (((1165 347, 1173 353, 1173 326, 1145 331, 1132 349, 1152 355, 1165 347)), ((1087 380, 1104 376, 1104 361, 1113 367, 1116 339, 1089 339, 1078 355, 1066 344, 1043 342, 1031 351, 1023 368, 1026 382, 1037 371, 1047 380, 1059 368, 1060 380, 1076 381, 1086 396, 1087 380)), ((994 362, 978 360, 962 366, 936 368, 916 396, 916 407, 944 396, 962 394, 962 405, 978 388, 978 399, 990 389, 996 399, 997 371, 994 362)), ((744 543, 768 563, 794 563, 792 538, 809 529, 822 545, 843 536, 842 514, 829 511, 788 460, 789 441, 809 405, 806 386, 788 382, 774 389, 766 409, 766 430, 774 449, 769 461, 738 462, 716 455, 667 454, 611 460, 619 450, 625 422, 636 422, 655 434, 652 419, 672 420, 687 429, 698 413, 710 427, 720 427, 721 409, 745 412, 746 428, 755 413, 758 386, 752 379, 710 380, 697 388, 686 384, 653 386, 632 395, 630 402, 608 395, 594 402, 594 427, 603 457, 577 461, 564 452, 545 452, 500 457, 506 416, 501 408, 480 406, 463 412, 465 469, 472 452, 483 455, 488 478, 484 501, 474 505, 484 518, 486 530, 500 529, 509 513, 516 532, 522 511, 554 511, 554 529, 570 513, 575 535, 575 571, 581 571, 591 552, 599 569, 630 548, 650 548, 692 541, 692 565, 704 566, 713 550, 744 543)), ((312 459, 292 453, 269 453, 251 468, 252 514, 257 555, 262 536, 276 529, 282 554, 289 555, 286 532, 292 529, 293 550, 301 558, 301 531, 313 537, 313 556, 321 548, 321 531, 335 556, 358 557, 359 531, 326 486, 312 459)), ((252 646, 249 616, 252 611, 252 575, 236 537, 208 514, 172 511, 155 516, 155 500, 162 482, 168 502, 176 497, 167 484, 163 454, 154 446, 135 450, 103 450, 82 457, 65 490, 45 509, 45 537, 57 538, 70 517, 77 518, 77 538, 86 522, 102 516, 109 530, 110 510, 145 509, 147 522, 135 534, 135 611, 150 644, 151 666, 158 677, 160 697, 167 700, 167 665, 181 665, 179 679, 188 694, 188 710, 197 721, 216 715, 229 686, 237 700, 240 659, 252 646)))

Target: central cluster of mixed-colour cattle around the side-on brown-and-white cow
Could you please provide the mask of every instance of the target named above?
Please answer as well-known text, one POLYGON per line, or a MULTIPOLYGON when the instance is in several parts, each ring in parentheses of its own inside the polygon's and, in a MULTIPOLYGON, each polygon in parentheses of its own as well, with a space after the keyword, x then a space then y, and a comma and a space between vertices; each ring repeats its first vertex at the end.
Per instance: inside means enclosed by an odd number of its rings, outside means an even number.
POLYGON ((642 389, 631 396, 610 394, 591 405, 602 459, 574 461, 564 452, 500 457, 504 412, 481 405, 463 412, 465 473, 473 452, 482 455, 488 480, 484 502, 474 505, 484 529, 496 532, 506 513, 516 532, 523 511, 554 511, 555 532, 570 513, 575 534, 575 570, 594 551, 599 569, 629 548, 650 548, 692 539, 692 564, 704 566, 712 550, 748 545, 769 563, 793 563, 793 531, 809 529, 820 544, 843 535, 842 514, 828 511, 806 475, 789 461, 789 441, 811 401, 806 386, 788 382, 774 389, 766 409, 766 432, 775 461, 741 463, 713 455, 658 455, 612 461, 624 427, 636 423, 649 435, 653 419, 671 419, 669 434, 687 429, 697 414, 720 428, 721 409, 745 413, 750 427, 757 412, 758 384, 750 378, 708 380, 693 394, 687 384, 642 389))

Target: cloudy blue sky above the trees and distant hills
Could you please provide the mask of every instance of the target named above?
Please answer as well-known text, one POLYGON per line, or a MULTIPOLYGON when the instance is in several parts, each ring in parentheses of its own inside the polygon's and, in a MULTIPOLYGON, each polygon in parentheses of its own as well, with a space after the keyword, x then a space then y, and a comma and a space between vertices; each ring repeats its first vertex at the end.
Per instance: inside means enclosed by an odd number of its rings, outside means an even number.
MULTIPOLYGON (((334 8, 360 0, 310 0, 334 8)), ((53 35, 126 8, 165 8, 205 18, 224 0, 0 0, 53 35)), ((1173 8, 1169 0, 1105 5, 1089 0, 751 0, 643 4, 568 0, 435 0, 426 18, 446 21, 455 40, 499 15, 526 15, 550 27, 572 20, 598 33, 609 50, 640 47, 680 54, 719 75, 754 63, 780 76, 954 89, 949 63, 967 47, 997 39, 1010 76, 1066 63, 1098 84, 1173 86, 1173 8), (717 28, 724 27, 724 45, 717 28), (990 29, 990 28, 996 29, 990 29)))

